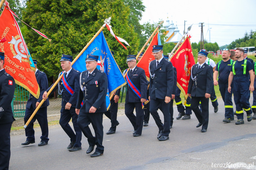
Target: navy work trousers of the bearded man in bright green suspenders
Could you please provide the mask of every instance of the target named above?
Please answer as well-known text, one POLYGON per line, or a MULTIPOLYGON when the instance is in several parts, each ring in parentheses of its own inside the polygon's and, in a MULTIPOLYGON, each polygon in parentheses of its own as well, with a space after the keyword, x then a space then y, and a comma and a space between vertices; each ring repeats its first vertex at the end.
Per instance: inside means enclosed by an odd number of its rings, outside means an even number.
POLYGON ((248 90, 250 86, 249 77, 246 75, 234 75, 233 83, 237 119, 244 119, 243 109, 247 114, 252 114, 252 109, 250 108, 250 103, 248 101, 248 95, 250 95, 250 91, 248 90))

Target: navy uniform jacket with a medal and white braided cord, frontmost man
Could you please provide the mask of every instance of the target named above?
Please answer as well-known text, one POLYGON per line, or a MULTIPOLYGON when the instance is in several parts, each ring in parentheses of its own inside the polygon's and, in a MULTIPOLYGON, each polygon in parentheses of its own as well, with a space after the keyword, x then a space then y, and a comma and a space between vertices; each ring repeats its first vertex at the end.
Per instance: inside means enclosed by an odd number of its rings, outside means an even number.
POLYGON ((97 109, 95 113, 107 111, 106 94, 108 90, 108 79, 106 73, 96 68, 88 78, 88 70, 81 74, 81 85, 83 88, 85 87, 86 90, 82 91, 81 88, 79 88, 76 108, 84 113, 89 113, 92 106, 97 109), (83 99, 84 104, 81 107, 83 99))

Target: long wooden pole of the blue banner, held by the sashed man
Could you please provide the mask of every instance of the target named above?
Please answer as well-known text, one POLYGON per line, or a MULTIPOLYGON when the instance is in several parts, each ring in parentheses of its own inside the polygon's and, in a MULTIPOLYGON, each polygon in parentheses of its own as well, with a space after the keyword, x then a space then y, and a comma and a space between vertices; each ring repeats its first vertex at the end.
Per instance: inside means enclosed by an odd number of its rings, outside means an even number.
MULTIPOLYGON (((3 1, 3 0, 2 0, 3 1)), ((111 19, 111 18, 110 18, 111 19)), ((102 25, 102 27, 98 30, 98 32, 93 36, 93 38, 89 41, 88 44, 86 44, 86 46, 82 49, 82 51, 77 55, 77 57, 71 62, 71 66, 74 64, 74 62, 77 61, 77 59, 83 54, 83 52, 88 48, 88 46, 93 42, 93 40, 99 35, 99 33, 103 30, 103 28, 106 26, 106 24, 108 22, 110 22, 110 19, 106 19, 104 22, 104 25, 102 25)), ((61 78, 63 77, 63 74, 60 75, 60 77, 58 78, 58 80, 56 80, 56 82, 53 84, 52 88, 50 88, 50 90, 47 93, 47 97, 48 95, 53 91, 53 88, 58 84, 58 82, 61 80, 61 78)), ((27 123, 25 124, 24 128, 26 129, 26 127, 28 126, 28 124, 30 123, 30 121, 33 119, 33 117, 35 116, 36 112, 39 110, 39 108, 42 106, 42 104, 44 103, 45 99, 42 99, 42 101, 40 102, 40 104, 37 106, 36 110, 33 112, 33 114, 30 116, 30 118, 28 119, 27 123)))

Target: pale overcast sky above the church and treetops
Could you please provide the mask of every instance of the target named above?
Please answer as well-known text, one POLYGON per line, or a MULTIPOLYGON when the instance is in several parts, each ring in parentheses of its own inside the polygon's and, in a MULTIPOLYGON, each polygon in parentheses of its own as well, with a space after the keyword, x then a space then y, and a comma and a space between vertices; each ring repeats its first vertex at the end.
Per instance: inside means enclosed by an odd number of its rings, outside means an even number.
POLYGON ((183 35, 184 20, 187 27, 193 24, 190 33, 192 42, 201 40, 201 26, 204 22, 203 37, 209 41, 208 23, 211 34, 211 43, 219 46, 230 44, 232 41, 243 38, 245 31, 256 31, 256 0, 142 0, 146 6, 141 24, 150 21, 163 20, 166 23, 167 13, 169 20, 173 20, 183 35), (207 33, 207 35, 206 35, 207 33))

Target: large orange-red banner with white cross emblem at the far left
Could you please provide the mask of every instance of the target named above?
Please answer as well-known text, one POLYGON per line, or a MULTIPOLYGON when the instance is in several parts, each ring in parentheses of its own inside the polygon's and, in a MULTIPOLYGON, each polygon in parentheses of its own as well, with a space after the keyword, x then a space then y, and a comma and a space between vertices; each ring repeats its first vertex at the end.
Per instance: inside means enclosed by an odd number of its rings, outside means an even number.
POLYGON ((18 32, 18 25, 11 12, 5 6, 0 16, 0 36, 7 41, 0 43, 0 51, 4 52, 4 69, 10 74, 15 83, 26 88, 32 95, 39 98, 40 89, 36 81, 31 61, 26 54, 24 46, 18 32))

